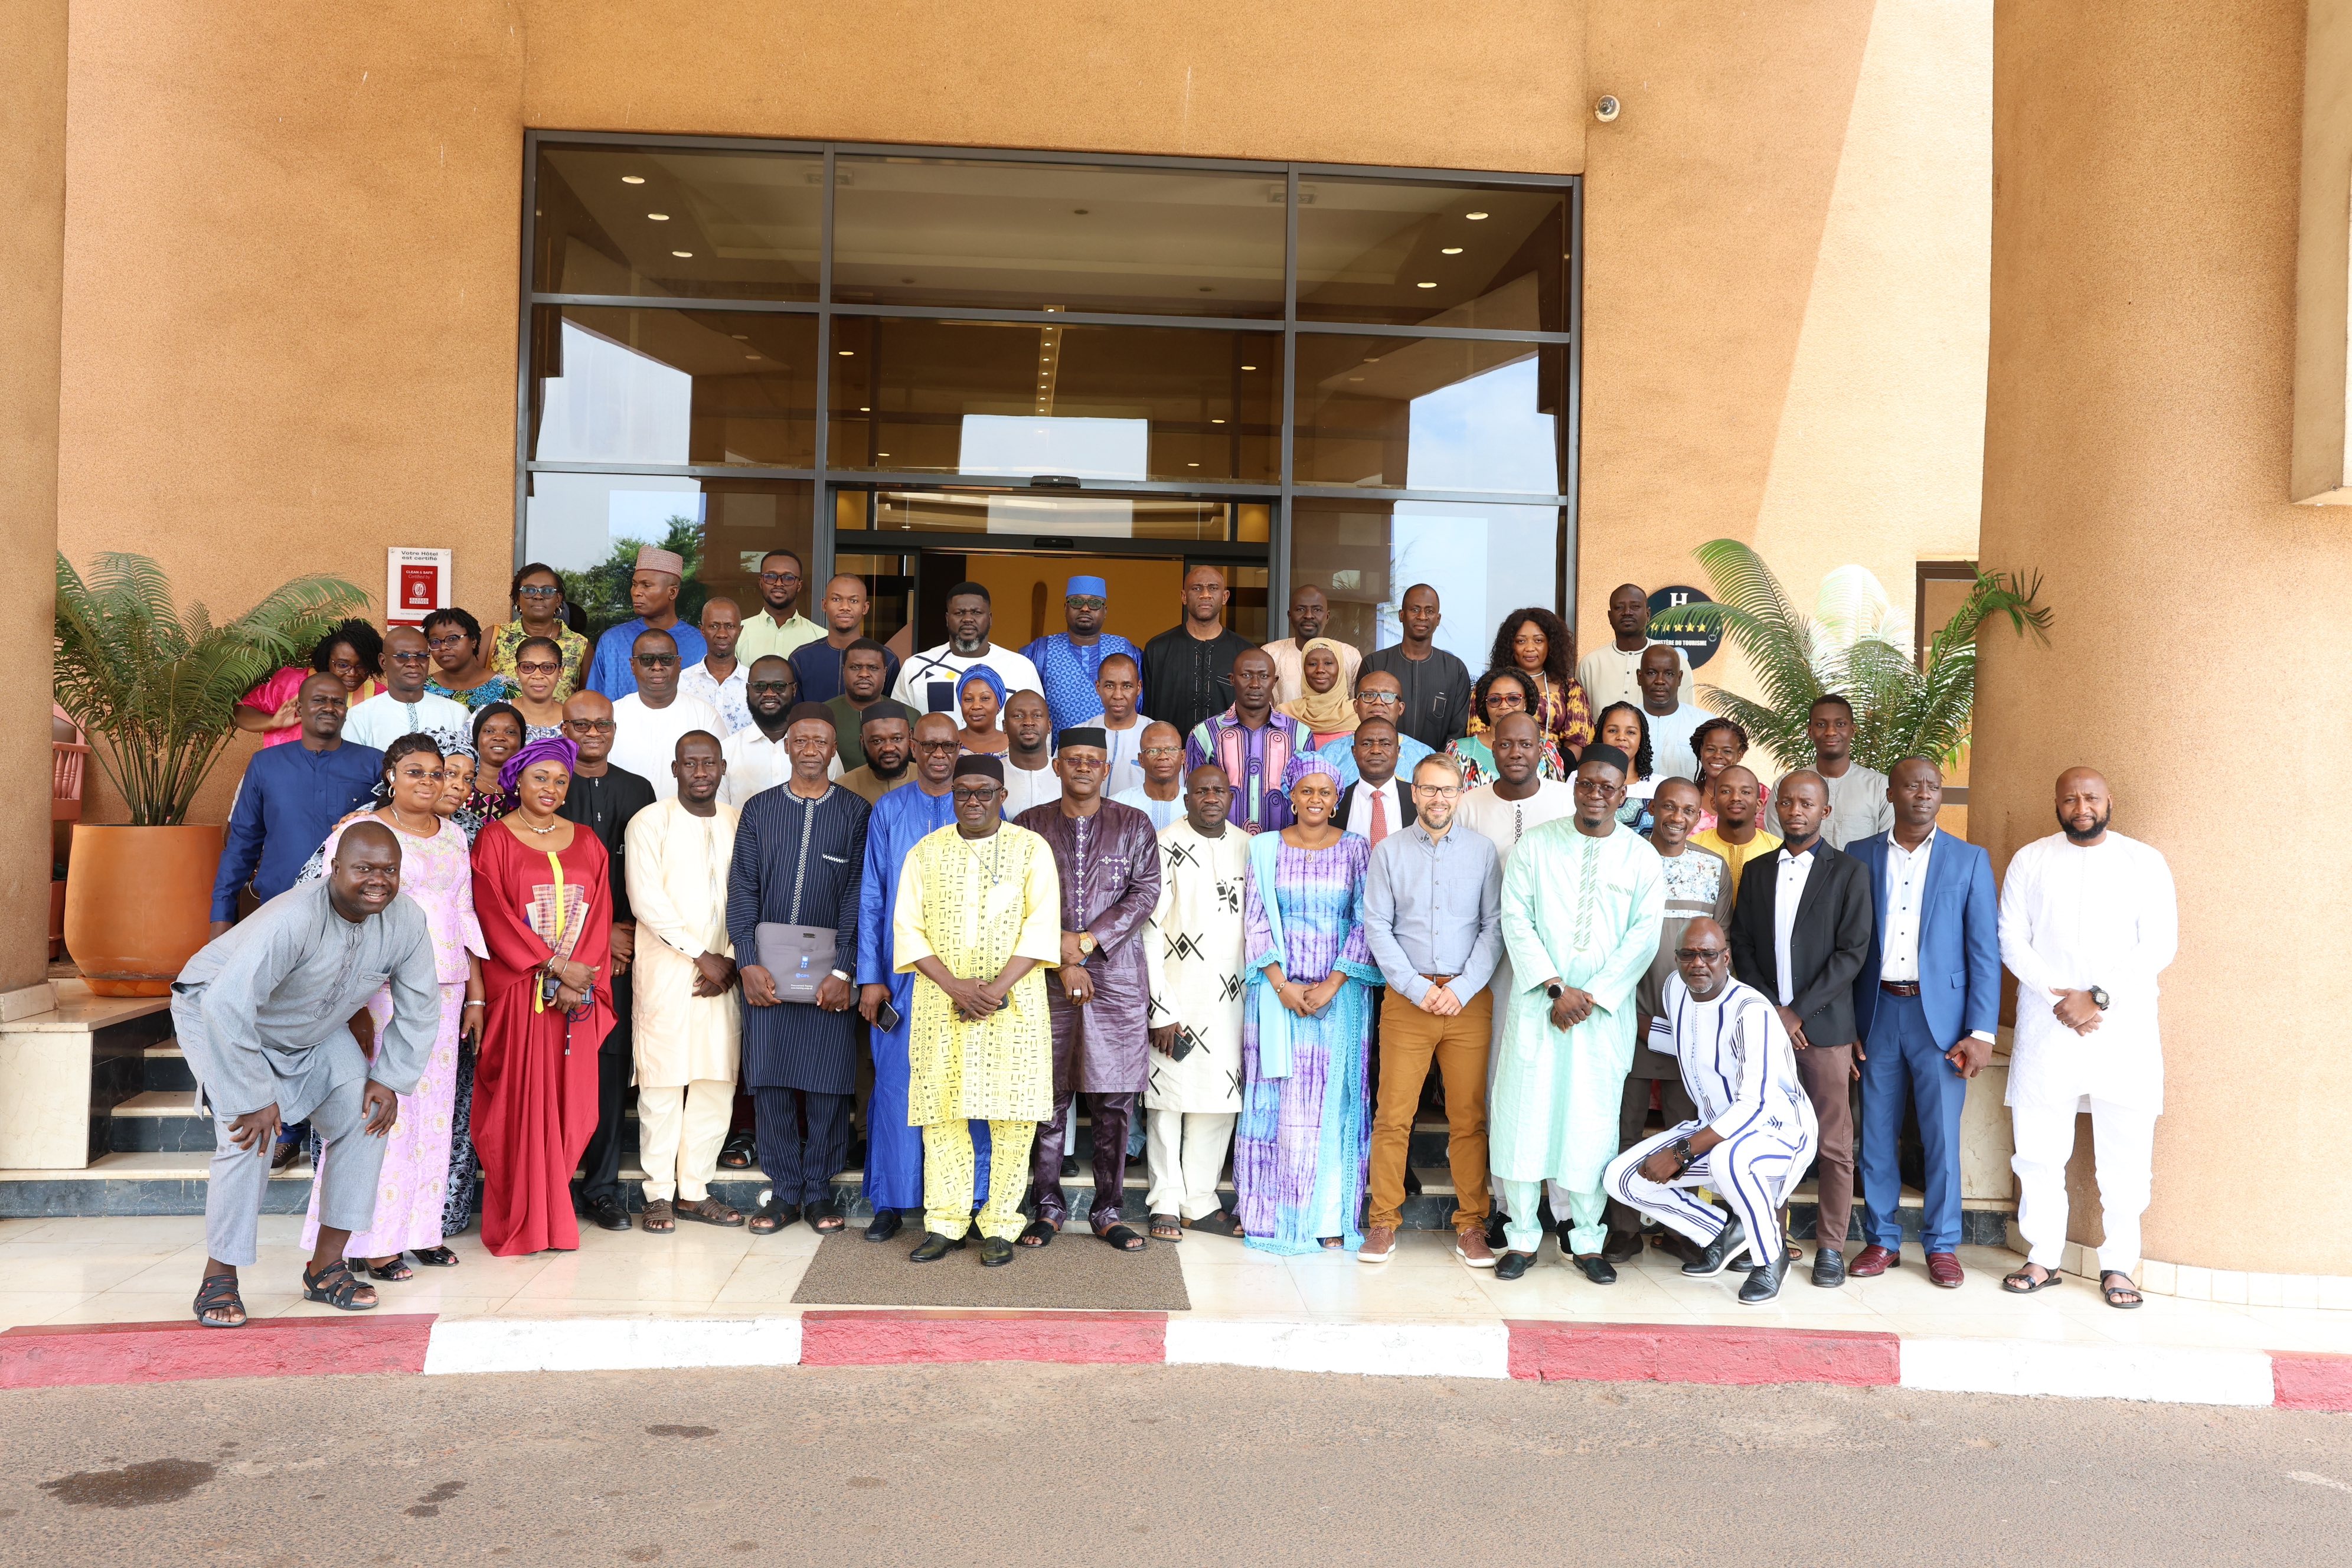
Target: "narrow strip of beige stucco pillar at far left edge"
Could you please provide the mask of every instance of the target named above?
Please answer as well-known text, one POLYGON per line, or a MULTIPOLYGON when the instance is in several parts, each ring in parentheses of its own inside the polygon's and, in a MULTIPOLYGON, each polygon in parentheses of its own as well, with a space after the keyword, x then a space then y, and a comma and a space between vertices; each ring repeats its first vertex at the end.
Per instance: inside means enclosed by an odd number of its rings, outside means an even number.
POLYGON ((66 0, 24 0, 0 49, 0 992, 49 964, 49 625, 56 574, 56 355, 66 235, 66 0), (24 679, 31 675, 33 679, 24 679))

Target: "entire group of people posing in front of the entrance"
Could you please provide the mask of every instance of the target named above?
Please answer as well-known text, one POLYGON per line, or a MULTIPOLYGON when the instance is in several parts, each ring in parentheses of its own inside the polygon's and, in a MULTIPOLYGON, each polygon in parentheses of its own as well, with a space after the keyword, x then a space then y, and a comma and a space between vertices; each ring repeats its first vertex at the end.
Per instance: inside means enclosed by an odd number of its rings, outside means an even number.
POLYGON ((2098 773, 2058 780, 2060 832, 1997 903, 1985 851, 1936 825, 1938 764, 1856 762, 1839 696, 1766 790, 1740 726, 1689 705, 1637 585, 1581 663, 1522 609, 1472 679, 1428 585, 1395 646, 1327 637, 1312 585, 1258 646, 1197 567, 1138 649, 1082 576, 1068 630, 1014 654, 962 583, 948 639, 901 661, 863 635, 854 576, 818 628, 800 559, 771 552, 750 621, 710 599, 687 628, 682 574, 640 552, 637 621, 590 649, 553 635, 560 578, 527 567, 487 654, 463 611, 350 623, 247 698, 268 745, 219 936, 174 987, 219 1124, 200 1321, 245 1321, 235 1272, 299 1121, 303 1291, 365 1309, 362 1274, 456 1262, 475 1164, 494 1253, 576 1246, 576 1213, 830 1234, 858 1133, 868 1241, 920 1218, 915 1262, 976 1234, 997 1267, 1075 1213, 1080 1100, 1110 1246, 1204 1229, 1378 1265, 1432 1088, 1456 1253, 1496 1279, 1529 1272, 1550 1215, 1592 1284, 1656 1244, 1773 1300, 1809 1171, 1811 1281, 1898 1267, 1912 1117, 1924 1265, 1957 1286, 1959 1112, 2002 964, 2032 1248, 2004 1288, 2058 1279, 2089 1107, 2100 1291, 2138 1305, 2173 893, 2110 832, 2098 773), (710 1185, 753 1157, 746 1215, 710 1185))

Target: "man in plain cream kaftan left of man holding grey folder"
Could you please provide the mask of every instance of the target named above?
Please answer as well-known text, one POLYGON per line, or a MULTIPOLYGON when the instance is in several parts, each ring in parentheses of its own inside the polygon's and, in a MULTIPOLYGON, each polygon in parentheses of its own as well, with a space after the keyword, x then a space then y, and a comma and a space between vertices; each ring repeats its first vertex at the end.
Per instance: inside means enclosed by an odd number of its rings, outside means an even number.
POLYGON ((734 806, 717 799, 724 759, 710 736, 675 748, 675 799, 630 818, 628 903, 637 917, 633 997, 637 1143, 647 1229, 668 1229, 668 1206, 694 1220, 741 1225, 710 1199, 734 1114, 743 1013, 727 940, 734 806))

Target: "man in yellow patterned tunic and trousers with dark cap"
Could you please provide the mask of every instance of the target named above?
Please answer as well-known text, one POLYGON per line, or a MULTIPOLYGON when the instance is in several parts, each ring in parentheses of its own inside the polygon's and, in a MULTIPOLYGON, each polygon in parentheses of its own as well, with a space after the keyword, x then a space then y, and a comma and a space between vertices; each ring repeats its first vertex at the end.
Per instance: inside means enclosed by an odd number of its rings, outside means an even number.
MULTIPOLYGON (((924 715, 922 726, 938 717, 924 715)), ((917 976, 906 1119, 922 1128, 927 1234, 910 1258, 936 1262, 964 1246, 974 1225, 969 1119, 981 1119, 995 1154, 981 1262, 1000 1267, 1021 1234, 1030 1138, 1054 1110, 1040 966, 1061 961, 1061 889, 1044 839, 1002 816, 1002 759, 957 757, 950 788, 955 823, 908 853, 891 910, 894 969, 917 976)))

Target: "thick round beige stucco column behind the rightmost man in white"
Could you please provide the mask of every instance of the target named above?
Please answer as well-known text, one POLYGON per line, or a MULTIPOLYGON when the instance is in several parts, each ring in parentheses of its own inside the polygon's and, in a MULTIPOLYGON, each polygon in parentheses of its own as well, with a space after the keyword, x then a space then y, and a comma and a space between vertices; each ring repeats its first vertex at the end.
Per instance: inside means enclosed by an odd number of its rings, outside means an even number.
POLYGON ((2270 736, 2279 778, 2352 759, 2331 708, 2352 686, 2333 609, 2352 538, 2288 503, 2303 19, 2293 0, 1999 12, 1985 555, 2042 567, 2058 618, 2046 651, 1985 644, 1971 825, 2006 865, 2053 830, 2056 773, 2093 764, 2114 827, 2171 860, 2147 1255, 2352 1274, 2352 1178, 2305 1161, 2286 1208, 2260 1159, 2326 1147, 2352 1095, 2321 1001, 2352 893, 2249 875, 2260 806, 2211 766, 2223 731, 2270 736), (2197 614, 2281 595, 2331 609, 2284 637, 2197 614))

